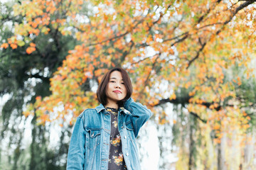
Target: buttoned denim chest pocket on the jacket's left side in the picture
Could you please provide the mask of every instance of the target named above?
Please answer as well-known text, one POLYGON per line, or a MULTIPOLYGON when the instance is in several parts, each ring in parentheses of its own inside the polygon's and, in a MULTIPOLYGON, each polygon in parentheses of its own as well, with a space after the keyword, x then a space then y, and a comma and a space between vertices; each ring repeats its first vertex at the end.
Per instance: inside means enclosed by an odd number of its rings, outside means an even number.
POLYGON ((100 145, 100 129, 86 128, 86 142, 85 147, 94 150, 97 145, 100 145))

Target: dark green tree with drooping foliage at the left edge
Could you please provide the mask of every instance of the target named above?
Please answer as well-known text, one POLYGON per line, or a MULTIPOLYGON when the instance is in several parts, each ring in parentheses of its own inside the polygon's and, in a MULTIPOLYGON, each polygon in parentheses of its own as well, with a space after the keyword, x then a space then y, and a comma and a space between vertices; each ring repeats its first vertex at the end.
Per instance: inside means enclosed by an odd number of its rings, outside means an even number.
MULTIPOLYGON (((35 36, 30 33, 26 38, 14 40, 11 36, 26 30, 26 26, 15 30, 16 33, 13 29, 18 25, 24 26, 27 19, 22 15, 14 15, 14 4, 18 5, 18 2, 1 4, 0 16, 0 96, 9 96, 1 111, 1 146, 7 146, 1 148, 1 154, 5 155, 0 160, 1 163, 7 163, 5 159, 8 158, 8 166, 2 168, 65 169, 60 159, 68 151, 68 142, 60 140, 60 149, 50 149, 47 137, 50 127, 38 125, 36 115, 25 118, 23 108, 28 103, 34 103, 36 96, 51 94, 50 77, 61 66, 68 50, 73 49, 78 41, 70 35, 62 35, 53 25, 48 25, 50 30, 47 34, 44 32, 35 36), (12 40, 14 43, 9 46, 8 42, 12 40), (28 123, 32 124, 32 141, 31 145, 24 145, 24 142, 29 141, 29 136, 24 133, 28 123)), ((59 12, 55 14, 56 16, 52 16, 55 19, 65 17, 59 12)), ((70 135, 70 130, 71 127, 67 127, 61 137, 70 135)))

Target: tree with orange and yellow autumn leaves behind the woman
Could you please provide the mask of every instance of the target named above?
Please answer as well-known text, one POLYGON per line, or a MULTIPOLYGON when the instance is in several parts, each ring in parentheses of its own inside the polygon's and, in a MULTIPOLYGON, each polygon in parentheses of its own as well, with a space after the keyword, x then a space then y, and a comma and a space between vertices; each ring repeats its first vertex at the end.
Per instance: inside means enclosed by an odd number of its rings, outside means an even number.
MULTIPOLYGON (((106 70, 124 67, 136 84, 133 97, 152 110, 164 103, 180 104, 200 127, 210 128, 215 144, 234 130, 245 136, 253 118, 247 113, 255 101, 248 104, 239 91, 244 77, 255 79, 250 65, 255 53, 255 1, 82 4, 34 0, 14 6, 15 16, 25 18, 2 48, 25 43, 31 56, 40 45, 34 38, 52 29, 80 41, 50 79, 50 96, 38 95, 24 115, 36 115, 41 125, 72 125, 84 108, 97 105, 95 89, 106 70), (242 72, 232 74, 233 67, 242 72)), ((155 116, 160 124, 166 123, 164 113, 155 116)), ((191 129, 193 153, 188 155, 196 153, 193 141, 200 137, 198 130, 191 129)), ((188 160, 191 169, 196 167, 196 160, 188 160)))

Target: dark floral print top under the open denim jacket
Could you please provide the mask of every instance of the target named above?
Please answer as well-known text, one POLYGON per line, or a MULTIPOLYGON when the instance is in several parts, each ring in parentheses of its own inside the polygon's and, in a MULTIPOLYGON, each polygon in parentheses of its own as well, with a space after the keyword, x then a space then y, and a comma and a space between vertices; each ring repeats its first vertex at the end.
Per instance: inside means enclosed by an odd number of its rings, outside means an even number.
POLYGON ((111 115, 111 132, 110 132, 110 154, 108 169, 111 170, 127 170, 122 154, 121 136, 117 128, 116 108, 106 108, 111 115))

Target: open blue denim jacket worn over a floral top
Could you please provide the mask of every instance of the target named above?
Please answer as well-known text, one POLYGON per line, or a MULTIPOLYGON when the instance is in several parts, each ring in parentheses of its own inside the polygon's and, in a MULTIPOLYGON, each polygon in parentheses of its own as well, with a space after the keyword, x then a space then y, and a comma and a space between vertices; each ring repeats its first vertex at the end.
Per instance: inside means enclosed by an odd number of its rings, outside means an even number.
MULTIPOLYGON (((118 111, 118 130, 128 170, 139 170, 135 138, 152 113, 129 98, 118 111)), ((67 169, 107 170, 110 152, 110 113, 100 104, 83 111, 76 120, 68 149, 67 169)))

